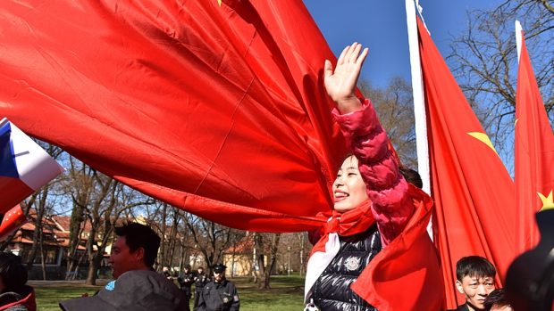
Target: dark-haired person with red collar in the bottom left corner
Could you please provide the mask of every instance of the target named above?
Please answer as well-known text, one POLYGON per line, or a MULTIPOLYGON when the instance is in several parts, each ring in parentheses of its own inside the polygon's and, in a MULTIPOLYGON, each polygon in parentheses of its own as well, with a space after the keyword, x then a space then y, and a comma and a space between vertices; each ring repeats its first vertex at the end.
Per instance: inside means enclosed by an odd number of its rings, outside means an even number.
POLYGON ((35 311, 35 291, 27 283, 21 257, 0 252, 0 310, 35 311))

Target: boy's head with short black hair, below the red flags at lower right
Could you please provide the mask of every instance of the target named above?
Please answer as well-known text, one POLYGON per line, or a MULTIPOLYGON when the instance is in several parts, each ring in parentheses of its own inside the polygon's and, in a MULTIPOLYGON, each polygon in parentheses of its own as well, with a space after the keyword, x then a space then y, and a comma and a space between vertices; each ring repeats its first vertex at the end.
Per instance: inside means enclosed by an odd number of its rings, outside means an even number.
POLYGON ((496 268, 486 258, 468 256, 456 263, 456 288, 466 303, 451 311, 484 310, 484 301, 495 290, 496 268))

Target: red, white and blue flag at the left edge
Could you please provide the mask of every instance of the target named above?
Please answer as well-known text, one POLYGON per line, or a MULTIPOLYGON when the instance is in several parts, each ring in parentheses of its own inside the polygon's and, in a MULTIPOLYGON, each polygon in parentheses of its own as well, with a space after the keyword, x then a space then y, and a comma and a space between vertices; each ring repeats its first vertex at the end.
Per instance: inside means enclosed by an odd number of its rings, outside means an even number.
POLYGON ((8 119, 0 120, 0 214, 62 172, 63 168, 38 143, 8 119))

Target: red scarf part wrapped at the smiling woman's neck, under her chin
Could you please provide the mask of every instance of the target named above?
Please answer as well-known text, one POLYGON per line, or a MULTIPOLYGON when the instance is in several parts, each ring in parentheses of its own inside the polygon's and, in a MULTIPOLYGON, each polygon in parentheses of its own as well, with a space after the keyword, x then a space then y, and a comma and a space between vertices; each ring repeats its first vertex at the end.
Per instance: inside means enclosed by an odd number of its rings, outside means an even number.
MULTIPOLYGON (((350 209, 344 213, 333 210, 331 220, 320 229, 321 238, 315 243, 310 256, 316 251, 325 251, 325 243, 329 241, 329 233, 349 236, 363 233, 370 226, 374 225, 375 219, 371 212, 371 206, 372 202, 367 200, 358 205, 356 209, 350 209)), ((325 217, 325 215, 319 213, 317 217, 325 217)))

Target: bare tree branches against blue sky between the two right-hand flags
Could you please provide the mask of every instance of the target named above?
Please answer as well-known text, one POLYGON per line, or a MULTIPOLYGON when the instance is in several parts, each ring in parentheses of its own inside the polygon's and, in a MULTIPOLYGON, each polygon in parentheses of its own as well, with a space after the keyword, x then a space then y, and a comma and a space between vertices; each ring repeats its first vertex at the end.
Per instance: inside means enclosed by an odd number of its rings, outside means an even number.
POLYGON ((554 12, 548 1, 509 0, 491 11, 469 12, 467 30, 453 39, 447 58, 505 162, 513 150, 516 19, 524 27, 537 84, 549 118, 554 119, 554 12))

